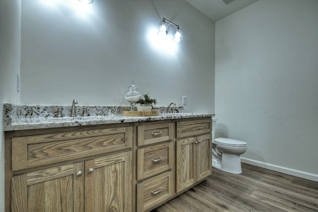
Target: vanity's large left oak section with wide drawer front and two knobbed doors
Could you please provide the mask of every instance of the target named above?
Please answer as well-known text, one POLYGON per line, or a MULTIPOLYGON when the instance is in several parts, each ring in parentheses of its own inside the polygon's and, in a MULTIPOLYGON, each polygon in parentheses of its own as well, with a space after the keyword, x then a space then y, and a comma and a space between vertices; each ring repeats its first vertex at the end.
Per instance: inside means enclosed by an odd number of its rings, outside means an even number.
POLYGON ((12 212, 130 212, 129 124, 10 133, 12 212))

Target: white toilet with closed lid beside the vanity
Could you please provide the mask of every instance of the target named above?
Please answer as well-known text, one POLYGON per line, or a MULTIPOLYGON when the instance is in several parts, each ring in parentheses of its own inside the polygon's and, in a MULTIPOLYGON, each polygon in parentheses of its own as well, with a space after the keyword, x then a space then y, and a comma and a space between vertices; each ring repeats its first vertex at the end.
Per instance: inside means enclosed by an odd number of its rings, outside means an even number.
POLYGON ((242 168, 239 155, 247 150, 247 144, 234 139, 215 139, 217 120, 217 118, 212 118, 212 167, 232 174, 240 174, 242 168))

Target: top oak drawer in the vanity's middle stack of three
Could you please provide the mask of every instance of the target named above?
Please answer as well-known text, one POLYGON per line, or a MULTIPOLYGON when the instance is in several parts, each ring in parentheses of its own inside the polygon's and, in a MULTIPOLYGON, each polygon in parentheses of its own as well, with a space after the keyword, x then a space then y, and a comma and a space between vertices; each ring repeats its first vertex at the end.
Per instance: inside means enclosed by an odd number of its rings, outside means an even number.
POLYGON ((172 123, 144 123, 138 127, 138 146, 143 146, 173 138, 172 123))

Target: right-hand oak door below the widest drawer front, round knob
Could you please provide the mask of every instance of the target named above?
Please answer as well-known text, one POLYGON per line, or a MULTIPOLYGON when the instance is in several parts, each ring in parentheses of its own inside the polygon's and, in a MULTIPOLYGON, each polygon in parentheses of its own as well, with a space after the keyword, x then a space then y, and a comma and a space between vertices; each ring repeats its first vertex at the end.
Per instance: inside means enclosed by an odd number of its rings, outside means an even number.
POLYGON ((132 152, 85 161, 86 212, 132 211, 132 152))

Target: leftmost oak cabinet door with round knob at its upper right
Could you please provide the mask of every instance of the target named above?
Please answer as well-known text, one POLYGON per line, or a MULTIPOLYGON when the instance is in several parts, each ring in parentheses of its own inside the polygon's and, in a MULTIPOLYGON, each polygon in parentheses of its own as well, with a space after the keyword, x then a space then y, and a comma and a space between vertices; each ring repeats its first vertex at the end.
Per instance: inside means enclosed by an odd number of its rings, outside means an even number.
POLYGON ((83 212, 83 169, 79 162, 12 177, 12 212, 83 212))

